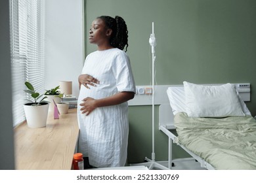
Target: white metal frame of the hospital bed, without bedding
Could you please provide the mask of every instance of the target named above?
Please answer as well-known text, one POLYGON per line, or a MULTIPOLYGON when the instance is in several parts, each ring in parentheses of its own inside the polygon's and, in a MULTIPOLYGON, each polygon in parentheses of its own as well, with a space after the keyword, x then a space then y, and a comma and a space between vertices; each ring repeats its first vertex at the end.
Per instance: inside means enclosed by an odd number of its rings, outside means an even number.
MULTIPOLYGON (((177 86, 177 85, 175 85, 177 86)), ((181 85, 182 87, 182 85, 181 85)), ((250 88, 246 87, 246 90, 243 89, 243 86, 237 85, 237 88, 239 89, 238 92, 240 93, 240 96, 242 96, 242 99, 244 101, 250 101, 250 88), (242 95, 241 95, 242 94, 242 95)), ((165 135, 167 135, 169 142, 168 142, 168 168, 172 169, 172 165, 175 161, 184 161, 186 159, 196 159, 201 165, 201 167, 209 170, 215 169, 211 164, 207 163, 205 159, 200 158, 190 150, 188 150, 185 146, 182 144, 177 144, 181 146, 183 150, 185 150, 192 158, 182 158, 182 159, 173 159, 172 157, 172 151, 173 151, 173 143, 175 142, 175 139, 177 136, 173 133, 171 133, 170 129, 175 129, 174 126, 174 116, 171 109, 171 106, 169 104, 161 104, 159 107, 159 129, 165 135)))

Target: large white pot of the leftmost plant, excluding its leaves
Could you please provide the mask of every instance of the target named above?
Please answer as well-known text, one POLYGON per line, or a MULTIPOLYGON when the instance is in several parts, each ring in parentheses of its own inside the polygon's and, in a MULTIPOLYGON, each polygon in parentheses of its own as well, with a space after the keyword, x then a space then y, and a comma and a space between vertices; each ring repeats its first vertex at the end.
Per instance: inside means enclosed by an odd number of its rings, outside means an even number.
POLYGON ((28 103, 23 106, 28 127, 37 128, 46 126, 49 109, 48 103, 43 103, 43 105, 38 106, 33 106, 31 103, 28 103))

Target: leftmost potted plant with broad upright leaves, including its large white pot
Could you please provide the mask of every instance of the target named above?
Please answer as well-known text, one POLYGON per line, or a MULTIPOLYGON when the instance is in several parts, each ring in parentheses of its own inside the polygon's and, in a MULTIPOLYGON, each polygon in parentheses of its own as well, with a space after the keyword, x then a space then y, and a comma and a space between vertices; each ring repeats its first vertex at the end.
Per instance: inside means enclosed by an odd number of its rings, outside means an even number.
POLYGON ((30 103, 24 104, 24 112, 28 127, 45 127, 48 116, 48 101, 44 101, 47 97, 43 97, 43 94, 35 92, 33 85, 30 82, 25 82, 27 90, 24 92, 29 93, 33 98, 33 101, 28 100, 30 103))

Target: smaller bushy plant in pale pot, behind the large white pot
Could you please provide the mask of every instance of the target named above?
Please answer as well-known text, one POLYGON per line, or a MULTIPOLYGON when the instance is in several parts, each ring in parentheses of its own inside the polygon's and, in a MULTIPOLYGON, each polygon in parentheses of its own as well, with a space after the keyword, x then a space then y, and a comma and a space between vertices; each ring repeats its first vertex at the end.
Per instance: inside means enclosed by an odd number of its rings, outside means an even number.
POLYGON ((52 88, 51 90, 46 90, 45 92, 45 96, 47 96, 47 101, 50 103, 49 111, 54 110, 53 100, 55 101, 56 104, 60 103, 61 101, 63 93, 60 93, 59 89, 60 89, 60 86, 56 86, 55 88, 52 88))

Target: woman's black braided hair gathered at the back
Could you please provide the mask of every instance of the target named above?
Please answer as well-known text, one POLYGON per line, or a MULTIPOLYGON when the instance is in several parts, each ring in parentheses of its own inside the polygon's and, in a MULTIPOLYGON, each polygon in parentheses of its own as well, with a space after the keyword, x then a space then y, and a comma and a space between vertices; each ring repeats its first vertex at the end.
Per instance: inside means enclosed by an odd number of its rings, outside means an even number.
POLYGON ((107 29, 112 29, 112 35, 110 36, 110 44, 114 48, 119 48, 127 52, 128 44, 128 30, 125 20, 120 16, 112 18, 111 16, 99 16, 101 20, 105 22, 107 29), (125 47, 126 46, 126 47, 125 47))

